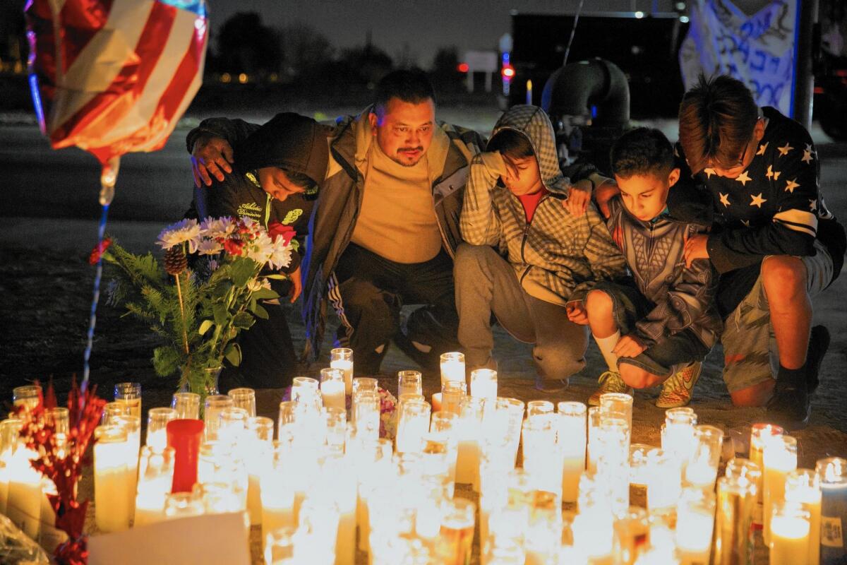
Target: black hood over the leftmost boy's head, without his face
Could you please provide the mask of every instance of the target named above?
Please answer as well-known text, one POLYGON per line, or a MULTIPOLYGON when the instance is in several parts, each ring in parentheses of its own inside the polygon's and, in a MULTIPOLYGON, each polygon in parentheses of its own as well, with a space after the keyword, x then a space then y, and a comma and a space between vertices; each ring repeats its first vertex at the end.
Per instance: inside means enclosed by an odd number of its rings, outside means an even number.
POLYGON ((324 182, 331 129, 300 114, 276 114, 235 147, 235 163, 244 170, 280 167, 324 182))

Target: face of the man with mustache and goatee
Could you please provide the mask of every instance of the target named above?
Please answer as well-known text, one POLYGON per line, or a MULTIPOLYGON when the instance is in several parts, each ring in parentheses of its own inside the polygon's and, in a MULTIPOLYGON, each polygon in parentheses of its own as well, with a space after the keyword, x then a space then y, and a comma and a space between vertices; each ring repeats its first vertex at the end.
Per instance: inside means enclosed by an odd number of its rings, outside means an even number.
POLYGON ((404 167, 418 163, 432 143, 435 102, 428 98, 413 104, 390 98, 385 108, 368 116, 379 148, 404 167))

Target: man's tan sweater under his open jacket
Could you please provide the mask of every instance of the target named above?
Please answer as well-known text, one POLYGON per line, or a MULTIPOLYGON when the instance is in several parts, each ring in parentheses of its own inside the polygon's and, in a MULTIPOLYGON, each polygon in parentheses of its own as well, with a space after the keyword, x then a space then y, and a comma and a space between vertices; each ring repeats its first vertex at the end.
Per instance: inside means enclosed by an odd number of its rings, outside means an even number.
POLYGON ((411 167, 388 158, 376 139, 368 150, 362 209, 352 242, 395 263, 423 263, 441 248, 427 156, 411 167))

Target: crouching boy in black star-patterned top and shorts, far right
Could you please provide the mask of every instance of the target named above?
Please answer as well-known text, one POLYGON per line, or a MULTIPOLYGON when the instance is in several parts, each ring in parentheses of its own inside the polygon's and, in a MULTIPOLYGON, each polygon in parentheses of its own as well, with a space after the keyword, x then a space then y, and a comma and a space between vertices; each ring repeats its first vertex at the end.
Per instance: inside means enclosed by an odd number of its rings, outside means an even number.
MULTIPOLYGON (((717 76, 679 107, 680 162, 711 197, 714 229, 689 238, 688 263, 708 258, 721 274, 723 378, 739 406, 767 403, 788 429, 805 426, 809 396, 829 345, 811 328, 810 296, 838 276, 844 228, 819 191, 809 133, 775 108, 758 108, 739 80, 717 76)), ((673 212, 673 192, 668 207, 673 212)))

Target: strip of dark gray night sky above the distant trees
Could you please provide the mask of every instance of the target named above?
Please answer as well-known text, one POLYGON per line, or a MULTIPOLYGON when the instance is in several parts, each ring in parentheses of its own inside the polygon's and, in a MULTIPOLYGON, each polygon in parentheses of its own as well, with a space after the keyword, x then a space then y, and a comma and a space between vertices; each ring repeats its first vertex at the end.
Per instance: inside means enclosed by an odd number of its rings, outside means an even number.
MULTIPOLYGON (((374 45, 399 58, 404 44, 418 65, 428 67, 439 47, 496 49, 511 29, 510 10, 573 14, 579 0, 209 0, 213 30, 236 12, 257 12, 264 25, 301 21, 335 47, 363 45, 370 30, 374 45)), ((585 0, 583 14, 650 9, 670 11, 672 0, 585 0)))

